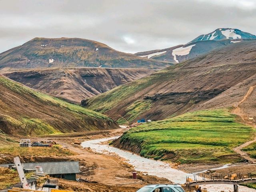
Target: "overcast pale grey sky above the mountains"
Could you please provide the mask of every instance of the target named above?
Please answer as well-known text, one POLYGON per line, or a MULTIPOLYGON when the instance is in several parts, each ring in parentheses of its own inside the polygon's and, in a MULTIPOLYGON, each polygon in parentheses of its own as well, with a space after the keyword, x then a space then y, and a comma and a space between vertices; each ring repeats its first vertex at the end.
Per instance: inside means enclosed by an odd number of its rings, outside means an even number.
POLYGON ((217 28, 256 34, 256 0, 0 0, 0 52, 35 37, 96 40, 136 53, 217 28))

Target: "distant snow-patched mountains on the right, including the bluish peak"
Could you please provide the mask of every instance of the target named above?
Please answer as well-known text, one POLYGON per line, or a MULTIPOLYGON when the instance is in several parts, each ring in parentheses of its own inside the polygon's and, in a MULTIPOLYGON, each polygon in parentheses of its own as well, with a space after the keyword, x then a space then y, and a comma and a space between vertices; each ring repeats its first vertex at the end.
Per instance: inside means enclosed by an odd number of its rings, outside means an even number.
POLYGON ((135 55, 154 60, 179 63, 206 54, 216 48, 239 43, 247 39, 256 39, 256 36, 238 29, 218 28, 209 34, 198 36, 187 44, 162 50, 138 52, 135 55))

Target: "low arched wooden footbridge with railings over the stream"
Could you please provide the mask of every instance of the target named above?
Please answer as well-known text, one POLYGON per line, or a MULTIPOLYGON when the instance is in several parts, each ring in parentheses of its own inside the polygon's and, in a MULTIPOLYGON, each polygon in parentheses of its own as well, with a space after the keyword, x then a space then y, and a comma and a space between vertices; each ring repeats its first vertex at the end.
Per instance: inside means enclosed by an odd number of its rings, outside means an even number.
POLYGON ((238 192, 238 185, 256 183, 256 172, 238 174, 202 174, 186 176, 187 187, 208 184, 230 184, 234 185, 234 192, 238 192))

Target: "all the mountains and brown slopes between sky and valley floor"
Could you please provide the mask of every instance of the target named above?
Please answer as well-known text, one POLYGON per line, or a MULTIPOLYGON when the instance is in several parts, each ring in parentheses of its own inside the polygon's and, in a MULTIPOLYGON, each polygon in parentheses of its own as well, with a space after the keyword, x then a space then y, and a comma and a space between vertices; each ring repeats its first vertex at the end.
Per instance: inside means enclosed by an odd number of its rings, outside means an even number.
POLYGON ((223 107, 255 119, 254 38, 222 28, 137 56, 91 40, 34 38, 0 54, 1 137, 109 129, 116 121, 223 107), (86 109, 62 99, 82 100, 86 109))

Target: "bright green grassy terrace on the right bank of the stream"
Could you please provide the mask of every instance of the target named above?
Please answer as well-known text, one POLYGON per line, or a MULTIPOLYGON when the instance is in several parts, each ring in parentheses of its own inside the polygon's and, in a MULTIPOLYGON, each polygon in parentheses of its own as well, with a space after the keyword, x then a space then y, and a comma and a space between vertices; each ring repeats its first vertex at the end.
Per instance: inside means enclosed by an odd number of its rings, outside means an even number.
POLYGON ((142 124, 120 140, 130 150, 140 146, 146 158, 190 163, 239 162, 233 148, 250 140, 254 130, 235 121, 227 109, 202 110, 142 124))

